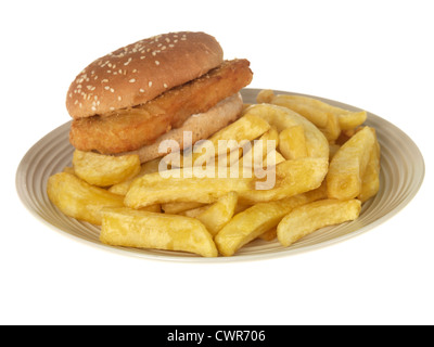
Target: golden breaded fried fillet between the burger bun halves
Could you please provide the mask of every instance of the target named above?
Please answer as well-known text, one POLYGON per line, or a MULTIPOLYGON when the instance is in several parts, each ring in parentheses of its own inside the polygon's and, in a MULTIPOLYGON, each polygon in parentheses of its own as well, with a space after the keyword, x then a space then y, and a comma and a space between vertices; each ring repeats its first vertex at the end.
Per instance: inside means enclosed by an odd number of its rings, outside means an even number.
POLYGON ((193 114, 204 113, 252 81, 247 60, 226 61, 143 105, 73 120, 69 141, 80 151, 116 154, 149 145, 193 114))

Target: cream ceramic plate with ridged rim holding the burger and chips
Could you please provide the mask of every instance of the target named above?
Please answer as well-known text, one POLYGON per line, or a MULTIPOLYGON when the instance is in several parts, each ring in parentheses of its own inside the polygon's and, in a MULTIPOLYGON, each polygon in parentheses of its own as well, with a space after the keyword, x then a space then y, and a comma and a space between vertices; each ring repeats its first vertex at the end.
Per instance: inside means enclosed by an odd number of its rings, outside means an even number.
MULTIPOLYGON (((244 89, 244 102, 254 103, 258 89, 244 89)), ((276 91, 276 93, 288 93, 276 91)), ((332 105, 358 110, 340 102, 317 98, 332 105)), ((378 131, 382 147, 381 189, 378 195, 363 205, 359 219, 336 227, 321 229, 284 248, 277 241, 256 240, 233 257, 202 258, 195 255, 126 247, 111 247, 99 241, 99 228, 64 216, 49 201, 46 188, 48 178, 65 166, 71 166, 73 146, 68 142, 69 123, 53 130, 36 143, 22 159, 16 172, 16 190, 24 205, 40 220, 65 235, 85 243, 142 258, 175 261, 233 261, 288 256, 330 245, 371 230, 387 220, 417 194, 424 177, 423 157, 411 139, 391 123, 368 114, 367 125, 378 131)))

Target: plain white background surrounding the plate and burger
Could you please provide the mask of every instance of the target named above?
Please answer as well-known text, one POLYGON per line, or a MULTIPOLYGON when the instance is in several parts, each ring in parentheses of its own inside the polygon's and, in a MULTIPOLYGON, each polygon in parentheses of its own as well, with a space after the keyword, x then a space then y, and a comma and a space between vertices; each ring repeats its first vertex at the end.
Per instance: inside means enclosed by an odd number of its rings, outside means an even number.
POLYGON ((433 324, 432 1, 2 1, 0 323, 433 324), (380 227, 319 250, 254 262, 143 260, 75 242, 20 202, 24 154, 69 120, 91 61, 173 30, 247 57, 251 87, 368 110, 408 133, 426 175, 380 227))

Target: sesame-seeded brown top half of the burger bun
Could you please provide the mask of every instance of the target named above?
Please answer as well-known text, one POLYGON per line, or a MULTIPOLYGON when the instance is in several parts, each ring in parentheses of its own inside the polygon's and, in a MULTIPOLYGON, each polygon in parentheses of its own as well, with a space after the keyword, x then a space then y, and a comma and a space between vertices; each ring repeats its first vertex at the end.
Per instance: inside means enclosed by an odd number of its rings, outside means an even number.
POLYGON ((71 83, 66 108, 78 119, 143 104, 206 74, 222 61, 220 44, 205 33, 151 37, 87 66, 71 83))

